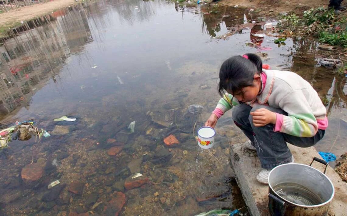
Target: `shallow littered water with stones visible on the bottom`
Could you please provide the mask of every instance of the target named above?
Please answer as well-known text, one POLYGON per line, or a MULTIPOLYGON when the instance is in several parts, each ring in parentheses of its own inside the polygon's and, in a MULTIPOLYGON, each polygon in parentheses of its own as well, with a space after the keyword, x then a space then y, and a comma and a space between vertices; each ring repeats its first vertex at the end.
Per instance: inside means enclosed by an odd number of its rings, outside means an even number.
POLYGON ((345 151, 346 123, 340 120, 347 114, 345 79, 315 67, 322 51, 314 41, 288 38, 278 47, 275 37, 252 36, 261 31, 250 28, 258 17, 247 8, 98 1, 12 31, 0 46, 1 124, 35 120, 51 136, 12 140, 0 152, 2 213, 194 215, 222 207, 245 213, 228 164, 229 142, 245 136, 231 113, 219 120, 212 149, 201 150, 194 136, 219 100, 219 65, 246 52, 266 53, 264 63, 273 69, 295 71, 312 83, 329 114, 329 128, 316 148, 345 151), (242 24, 248 26, 225 35, 242 24), (189 105, 203 109, 192 113, 189 105), (64 115, 77 120, 53 122, 64 115), (170 134, 179 144, 164 144, 170 134), (111 148, 119 152, 109 155, 111 148), (22 168, 31 163, 41 164, 43 173, 27 184, 22 168), (135 173, 147 184, 125 189, 135 173), (48 190, 57 179, 61 186, 48 190), (84 185, 82 194, 68 191, 71 182, 84 185))

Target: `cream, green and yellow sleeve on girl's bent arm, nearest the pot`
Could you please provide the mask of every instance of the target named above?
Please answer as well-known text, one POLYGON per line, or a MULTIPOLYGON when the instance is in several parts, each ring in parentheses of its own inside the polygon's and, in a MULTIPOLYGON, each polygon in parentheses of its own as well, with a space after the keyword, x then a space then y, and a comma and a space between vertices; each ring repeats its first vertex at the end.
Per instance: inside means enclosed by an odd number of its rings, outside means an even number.
POLYGON ((313 137, 318 131, 318 124, 301 90, 294 90, 287 94, 279 103, 283 115, 280 132, 296 137, 313 137))

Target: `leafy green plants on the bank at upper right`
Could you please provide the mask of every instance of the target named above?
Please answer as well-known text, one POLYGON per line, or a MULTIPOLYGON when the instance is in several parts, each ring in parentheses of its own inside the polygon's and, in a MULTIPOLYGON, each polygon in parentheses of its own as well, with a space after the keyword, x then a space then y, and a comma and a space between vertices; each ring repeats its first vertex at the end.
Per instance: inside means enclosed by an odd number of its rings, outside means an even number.
POLYGON ((302 16, 290 13, 278 23, 279 32, 313 35, 321 43, 347 47, 347 18, 324 7, 306 10, 302 16))

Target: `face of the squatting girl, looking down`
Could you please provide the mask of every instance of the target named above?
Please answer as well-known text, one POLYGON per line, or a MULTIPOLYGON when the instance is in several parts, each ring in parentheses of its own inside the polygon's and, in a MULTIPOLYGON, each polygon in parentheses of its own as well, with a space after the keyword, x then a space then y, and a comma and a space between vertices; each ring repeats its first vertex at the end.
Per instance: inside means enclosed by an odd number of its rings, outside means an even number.
POLYGON ((259 74, 254 74, 253 86, 244 87, 237 92, 231 92, 229 90, 227 90, 227 92, 234 95, 238 101, 245 103, 253 101, 261 91, 261 87, 262 85, 259 74))

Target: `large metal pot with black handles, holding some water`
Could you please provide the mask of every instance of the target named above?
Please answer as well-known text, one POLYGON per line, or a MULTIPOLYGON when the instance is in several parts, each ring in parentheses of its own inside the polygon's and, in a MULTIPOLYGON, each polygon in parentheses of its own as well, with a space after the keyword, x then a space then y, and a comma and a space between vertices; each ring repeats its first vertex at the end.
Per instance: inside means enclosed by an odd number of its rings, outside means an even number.
POLYGON ((269 174, 269 210, 272 216, 324 216, 335 189, 325 175, 328 162, 313 158, 310 166, 286 163, 269 174), (311 167, 313 161, 325 165, 324 173, 311 167))

